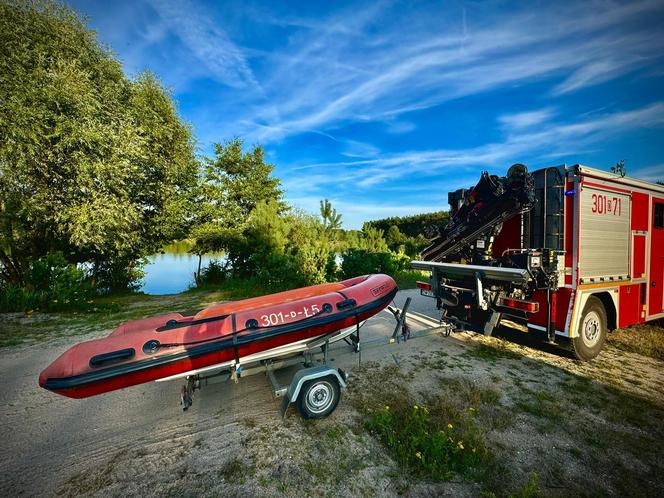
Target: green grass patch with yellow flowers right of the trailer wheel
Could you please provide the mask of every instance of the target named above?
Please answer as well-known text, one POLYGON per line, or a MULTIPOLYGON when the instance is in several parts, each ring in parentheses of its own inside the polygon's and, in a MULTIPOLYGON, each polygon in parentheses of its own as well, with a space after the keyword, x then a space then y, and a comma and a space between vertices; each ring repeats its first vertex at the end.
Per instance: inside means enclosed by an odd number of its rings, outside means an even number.
POLYGON ((495 462, 484 431, 508 420, 500 393, 460 377, 441 380, 434 392, 414 395, 400 374, 396 367, 374 367, 363 375, 371 388, 350 386, 363 427, 410 475, 485 480, 495 462))

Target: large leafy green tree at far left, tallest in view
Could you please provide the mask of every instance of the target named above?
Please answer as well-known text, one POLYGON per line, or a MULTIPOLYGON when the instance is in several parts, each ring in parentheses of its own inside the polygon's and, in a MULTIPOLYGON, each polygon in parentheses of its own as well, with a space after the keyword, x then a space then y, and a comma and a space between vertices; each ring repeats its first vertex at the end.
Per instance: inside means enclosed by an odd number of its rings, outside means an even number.
POLYGON ((62 251, 128 283, 183 233, 197 171, 189 127, 152 75, 128 80, 64 5, 0 0, 2 280, 20 284, 31 260, 62 251))

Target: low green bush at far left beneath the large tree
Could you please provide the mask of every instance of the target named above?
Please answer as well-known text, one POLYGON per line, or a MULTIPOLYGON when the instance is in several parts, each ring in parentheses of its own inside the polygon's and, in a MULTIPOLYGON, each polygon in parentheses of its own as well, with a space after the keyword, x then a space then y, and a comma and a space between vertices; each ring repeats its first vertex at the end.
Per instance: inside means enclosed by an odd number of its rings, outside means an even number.
POLYGON ((23 286, 0 288, 0 311, 83 309, 93 296, 85 271, 57 252, 32 261, 23 286))

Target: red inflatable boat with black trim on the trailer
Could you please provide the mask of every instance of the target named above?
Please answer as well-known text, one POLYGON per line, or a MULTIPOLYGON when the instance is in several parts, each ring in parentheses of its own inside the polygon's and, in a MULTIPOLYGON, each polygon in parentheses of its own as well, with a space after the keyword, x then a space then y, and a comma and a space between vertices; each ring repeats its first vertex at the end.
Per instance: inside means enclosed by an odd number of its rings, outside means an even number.
POLYGON ((385 308, 397 286, 369 275, 124 323, 65 351, 39 385, 85 398, 235 360, 351 327, 385 308))

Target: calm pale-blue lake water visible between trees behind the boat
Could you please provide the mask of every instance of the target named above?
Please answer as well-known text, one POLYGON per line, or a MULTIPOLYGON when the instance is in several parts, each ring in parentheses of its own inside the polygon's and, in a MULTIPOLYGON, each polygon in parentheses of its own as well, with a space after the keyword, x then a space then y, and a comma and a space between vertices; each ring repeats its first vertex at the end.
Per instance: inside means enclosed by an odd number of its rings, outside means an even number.
MULTIPOLYGON (((203 256, 201 268, 213 259, 223 259, 223 254, 203 256)), ((194 285, 194 272, 198 269, 198 256, 177 246, 164 248, 161 254, 148 257, 143 267, 145 278, 140 290, 146 294, 177 294, 194 285)))

